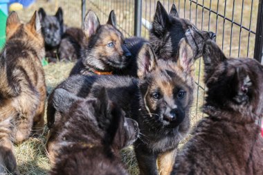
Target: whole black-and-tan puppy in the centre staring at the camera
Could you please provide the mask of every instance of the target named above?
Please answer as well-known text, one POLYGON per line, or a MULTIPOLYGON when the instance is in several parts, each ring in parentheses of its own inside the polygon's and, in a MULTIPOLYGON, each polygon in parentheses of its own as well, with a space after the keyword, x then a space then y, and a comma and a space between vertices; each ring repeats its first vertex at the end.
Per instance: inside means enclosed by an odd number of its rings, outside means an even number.
MULTIPOLYGON (((169 174, 179 141, 189 129, 193 99, 193 52, 185 39, 180 42, 178 62, 157 60, 152 47, 143 44, 138 54, 138 79, 121 76, 71 76, 57 88, 86 98, 104 86, 111 99, 138 122, 142 136, 134 143, 140 174, 169 174)), ((51 137, 61 125, 60 112, 48 98, 51 137)), ((52 141, 52 140, 51 140, 52 141)))

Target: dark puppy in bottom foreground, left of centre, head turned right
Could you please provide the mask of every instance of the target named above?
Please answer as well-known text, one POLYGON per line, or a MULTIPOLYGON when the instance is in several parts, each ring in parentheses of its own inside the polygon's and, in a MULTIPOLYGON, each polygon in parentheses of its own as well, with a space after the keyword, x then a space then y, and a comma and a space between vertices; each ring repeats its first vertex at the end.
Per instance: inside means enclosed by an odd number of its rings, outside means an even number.
POLYGON ((104 88, 96 94, 85 99, 55 90, 53 104, 63 113, 64 125, 57 128, 51 174, 127 174, 119 151, 138 138, 138 123, 125 118, 104 88))

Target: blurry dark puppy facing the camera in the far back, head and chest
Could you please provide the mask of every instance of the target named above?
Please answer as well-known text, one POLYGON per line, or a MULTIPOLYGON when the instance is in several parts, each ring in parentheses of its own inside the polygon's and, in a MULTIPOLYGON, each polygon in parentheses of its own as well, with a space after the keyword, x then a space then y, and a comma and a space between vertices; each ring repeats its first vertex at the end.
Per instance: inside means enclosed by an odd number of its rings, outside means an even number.
POLYGON ((38 10, 42 35, 45 41, 46 57, 51 62, 55 62, 57 59, 57 48, 60 46, 62 35, 64 30, 63 11, 62 8, 58 8, 54 16, 46 15, 43 8, 38 10))

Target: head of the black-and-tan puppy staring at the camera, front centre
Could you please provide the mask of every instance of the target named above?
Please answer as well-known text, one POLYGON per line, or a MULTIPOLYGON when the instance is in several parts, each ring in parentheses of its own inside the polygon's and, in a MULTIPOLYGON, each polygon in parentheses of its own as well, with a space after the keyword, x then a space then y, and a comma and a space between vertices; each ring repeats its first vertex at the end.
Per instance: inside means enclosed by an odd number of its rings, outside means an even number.
POLYGON ((153 128, 189 125, 194 80, 192 78, 192 50, 183 39, 180 42, 179 61, 156 61, 149 44, 138 54, 138 77, 145 121, 153 128), (182 124, 183 123, 183 124, 182 124))

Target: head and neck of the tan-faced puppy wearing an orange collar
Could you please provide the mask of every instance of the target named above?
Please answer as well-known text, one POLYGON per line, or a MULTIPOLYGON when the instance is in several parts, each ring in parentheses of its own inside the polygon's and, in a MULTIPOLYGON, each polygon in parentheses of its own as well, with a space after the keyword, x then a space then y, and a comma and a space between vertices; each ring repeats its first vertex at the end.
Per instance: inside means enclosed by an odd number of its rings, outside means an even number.
POLYGON ((84 18, 83 32, 81 59, 73 67, 71 75, 116 74, 127 66, 131 53, 125 46, 123 34, 116 28, 113 10, 105 25, 100 25, 95 12, 89 10, 84 18))

